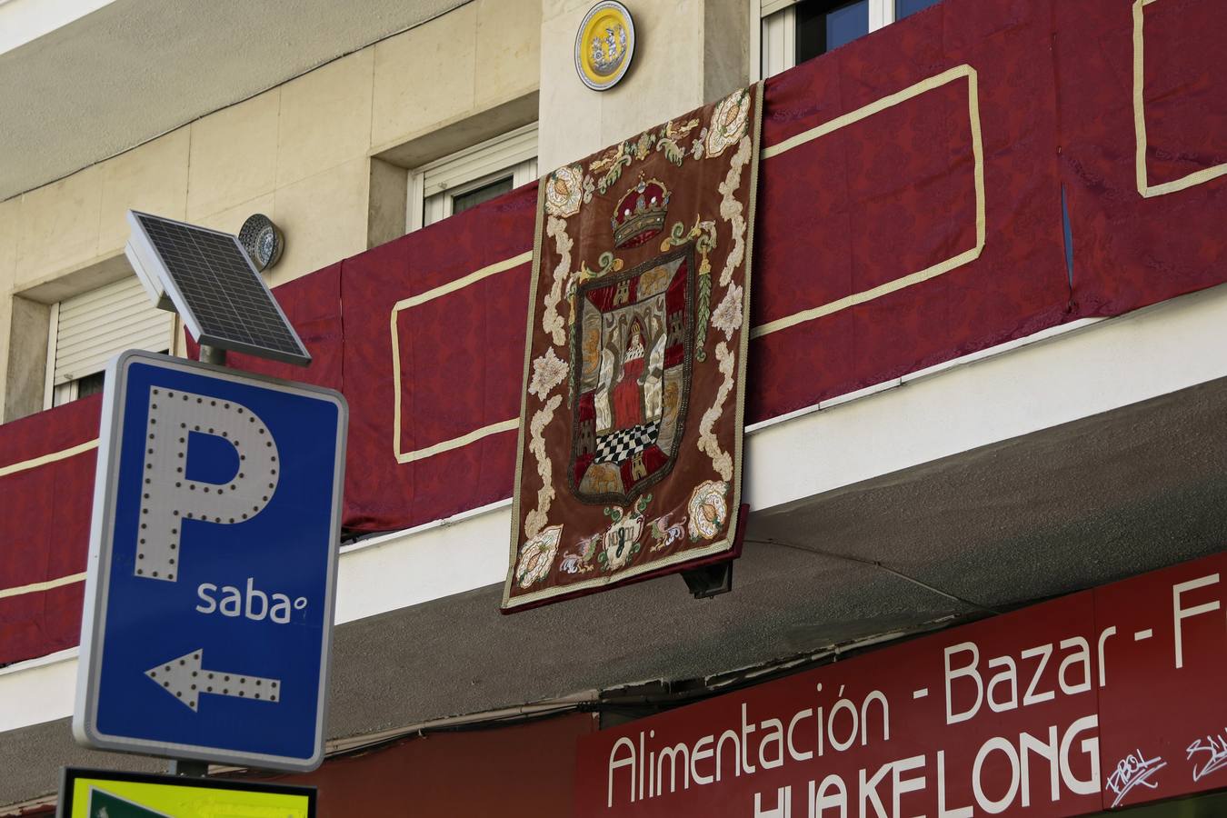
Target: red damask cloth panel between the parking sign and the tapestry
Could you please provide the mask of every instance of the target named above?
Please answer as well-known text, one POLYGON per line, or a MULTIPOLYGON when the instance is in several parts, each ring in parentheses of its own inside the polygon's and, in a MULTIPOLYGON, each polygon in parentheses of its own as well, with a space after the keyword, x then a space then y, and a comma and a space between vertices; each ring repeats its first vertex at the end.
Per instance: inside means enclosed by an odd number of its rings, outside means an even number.
POLYGON ((536 185, 346 259, 345 525, 510 495, 536 185))

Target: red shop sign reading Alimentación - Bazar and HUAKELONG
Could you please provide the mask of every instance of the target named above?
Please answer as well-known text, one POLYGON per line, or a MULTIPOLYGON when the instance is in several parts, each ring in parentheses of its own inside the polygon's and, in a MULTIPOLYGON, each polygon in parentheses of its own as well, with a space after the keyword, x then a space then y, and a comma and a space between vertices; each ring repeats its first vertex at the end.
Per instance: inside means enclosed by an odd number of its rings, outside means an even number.
POLYGON ((1227 553, 579 742, 584 817, 1058 818, 1227 786, 1227 553))

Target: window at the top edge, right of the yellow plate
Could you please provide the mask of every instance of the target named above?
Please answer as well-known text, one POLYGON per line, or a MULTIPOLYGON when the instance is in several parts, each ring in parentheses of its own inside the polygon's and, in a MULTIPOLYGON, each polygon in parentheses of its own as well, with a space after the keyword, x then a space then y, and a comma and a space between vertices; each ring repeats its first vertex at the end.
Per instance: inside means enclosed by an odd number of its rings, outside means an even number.
POLYGON ((761 0, 761 70, 769 77, 940 0, 761 0))

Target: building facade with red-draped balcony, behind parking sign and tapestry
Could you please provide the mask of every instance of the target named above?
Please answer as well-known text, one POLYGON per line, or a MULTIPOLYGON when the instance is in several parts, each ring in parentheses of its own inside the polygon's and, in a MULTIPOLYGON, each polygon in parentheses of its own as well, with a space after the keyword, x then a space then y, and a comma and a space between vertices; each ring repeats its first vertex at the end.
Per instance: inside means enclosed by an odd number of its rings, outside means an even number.
POLYGON ((270 217, 315 361, 231 363, 353 411, 329 759, 292 778, 324 814, 1217 814, 1214 0, 628 1, 605 92, 591 5, 0 2, 0 814, 53 809, 64 764, 166 768, 67 727, 102 372, 195 352, 128 210, 270 217), (733 591, 499 616, 536 180, 760 80, 733 591), (1119 687, 1108 622, 1142 651, 1119 687), (806 755, 811 717, 850 754, 806 755))

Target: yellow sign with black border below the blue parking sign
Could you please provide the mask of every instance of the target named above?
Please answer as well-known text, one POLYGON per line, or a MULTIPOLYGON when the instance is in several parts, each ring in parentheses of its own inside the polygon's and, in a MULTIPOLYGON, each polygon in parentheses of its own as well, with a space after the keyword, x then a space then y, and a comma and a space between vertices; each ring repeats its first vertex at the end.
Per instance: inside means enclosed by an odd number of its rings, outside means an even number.
POLYGON ((65 818, 314 818, 315 789, 247 781, 65 770, 65 818))

